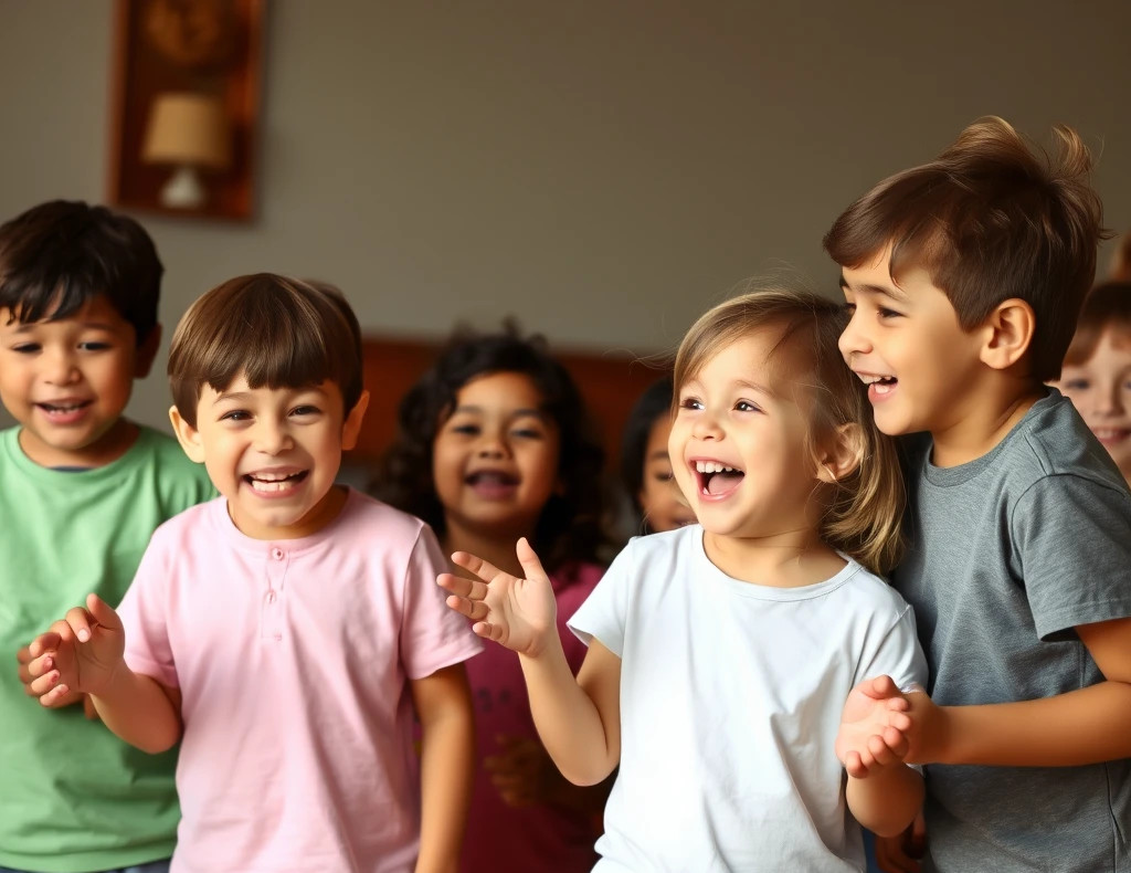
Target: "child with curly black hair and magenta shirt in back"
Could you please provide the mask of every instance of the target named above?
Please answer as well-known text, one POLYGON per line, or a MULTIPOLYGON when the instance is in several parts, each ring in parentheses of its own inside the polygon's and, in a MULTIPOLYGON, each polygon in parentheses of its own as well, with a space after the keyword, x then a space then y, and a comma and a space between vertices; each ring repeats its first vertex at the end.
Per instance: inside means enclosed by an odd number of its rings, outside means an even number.
MULTIPOLYGON (((527 537, 549 556, 568 615, 602 567, 599 445, 572 378, 538 337, 513 326, 457 333, 405 395, 378 494, 433 527, 448 554, 474 549, 513 564, 527 537)), ((517 568, 517 567, 516 567, 517 568)), ((585 647, 567 652, 573 669, 585 647)), ((480 767, 460 870, 588 871, 606 791, 569 785, 530 721, 518 659, 498 647, 472 658, 480 767)))

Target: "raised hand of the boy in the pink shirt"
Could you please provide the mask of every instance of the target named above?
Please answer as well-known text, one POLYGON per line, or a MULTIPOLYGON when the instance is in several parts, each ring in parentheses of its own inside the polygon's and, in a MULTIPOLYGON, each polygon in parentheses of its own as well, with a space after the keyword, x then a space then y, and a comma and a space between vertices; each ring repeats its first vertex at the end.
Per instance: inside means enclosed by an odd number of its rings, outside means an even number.
POLYGON ((124 662, 126 635, 118 614, 97 594, 86 598, 28 647, 31 692, 45 707, 71 693, 98 694, 124 662))

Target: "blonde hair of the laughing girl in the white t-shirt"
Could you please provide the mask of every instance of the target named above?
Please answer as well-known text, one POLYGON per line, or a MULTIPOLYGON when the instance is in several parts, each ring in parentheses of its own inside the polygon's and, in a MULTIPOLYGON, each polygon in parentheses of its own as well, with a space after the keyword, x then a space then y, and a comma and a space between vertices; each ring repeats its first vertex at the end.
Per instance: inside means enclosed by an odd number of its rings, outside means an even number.
POLYGON ((806 291, 761 289, 719 303, 680 343, 673 402, 722 349, 754 331, 780 329, 772 353, 789 346, 791 362, 804 369, 787 376, 811 397, 806 450, 815 460, 817 444, 840 428, 858 434, 860 462, 843 478, 819 486, 826 495, 820 537, 873 573, 886 573, 903 555, 904 485, 895 444, 875 427, 866 388, 837 348, 847 323, 843 306, 806 291))

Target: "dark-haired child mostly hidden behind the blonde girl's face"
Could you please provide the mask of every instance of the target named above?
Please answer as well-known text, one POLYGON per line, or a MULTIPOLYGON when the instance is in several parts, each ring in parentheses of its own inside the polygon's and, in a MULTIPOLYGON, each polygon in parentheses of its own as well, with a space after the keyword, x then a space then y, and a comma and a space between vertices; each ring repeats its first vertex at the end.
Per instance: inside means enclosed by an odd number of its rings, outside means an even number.
POLYGON ((641 533, 675 530, 696 520, 672 474, 671 433, 672 377, 664 376, 645 388, 621 435, 621 481, 632 498, 641 533))

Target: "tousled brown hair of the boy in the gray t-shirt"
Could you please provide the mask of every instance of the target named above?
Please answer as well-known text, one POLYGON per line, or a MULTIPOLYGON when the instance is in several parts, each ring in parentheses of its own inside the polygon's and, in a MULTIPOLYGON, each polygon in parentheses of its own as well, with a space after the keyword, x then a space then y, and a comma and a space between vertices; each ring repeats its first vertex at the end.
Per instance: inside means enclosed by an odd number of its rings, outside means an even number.
POLYGON ((893 281, 925 269, 964 329, 1025 300, 1036 315, 1030 377, 1054 379, 1096 273, 1103 204, 1091 154, 1069 127, 1038 153, 1004 120, 979 119, 934 161, 896 173, 852 204, 824 236, 843 267, 891 247, 893 281))

